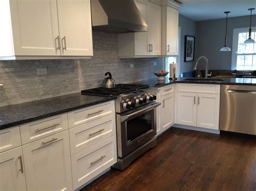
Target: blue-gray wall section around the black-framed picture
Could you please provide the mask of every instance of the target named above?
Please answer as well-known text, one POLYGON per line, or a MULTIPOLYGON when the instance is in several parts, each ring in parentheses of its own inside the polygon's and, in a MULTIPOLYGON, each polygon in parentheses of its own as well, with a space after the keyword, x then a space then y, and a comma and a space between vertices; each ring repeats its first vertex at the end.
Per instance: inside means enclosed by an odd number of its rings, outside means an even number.
MULTIPOLYGON (((196 22, 192 19, 179 15, 179 26, 181 27, 181 44, 180 44, 180 73, 191 71, 194 67, 194 61, 184 62, 185 36, 196 37, 195 45, 197 45, 196 22)), ((197 49, 195 51, 195 56, 197 49)), ((196 59, 196 58, 195 58, 196 59)))

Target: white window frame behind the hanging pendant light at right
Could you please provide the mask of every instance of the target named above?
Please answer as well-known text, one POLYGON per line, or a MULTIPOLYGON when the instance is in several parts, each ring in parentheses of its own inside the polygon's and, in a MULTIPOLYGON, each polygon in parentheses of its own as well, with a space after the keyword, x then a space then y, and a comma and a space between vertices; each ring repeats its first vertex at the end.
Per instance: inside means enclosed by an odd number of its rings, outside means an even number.
MULTIPOLYGON (((232 45, 232 63, 231 69, 237 69, 237 49, 238 49, 238 34, 241 32, 249 32, 249 27, 239 28, 233 30, 233 45, 232 45)), ((256 27, 252 27, 252 32, 256 32, 256 27)), ((252 53, 248 54, 251 55, 252 53)), ((256 54, 256 52, 255 52, 256 54)), ((239 54, 239 55, 247 55, 247 54, 239 54)))

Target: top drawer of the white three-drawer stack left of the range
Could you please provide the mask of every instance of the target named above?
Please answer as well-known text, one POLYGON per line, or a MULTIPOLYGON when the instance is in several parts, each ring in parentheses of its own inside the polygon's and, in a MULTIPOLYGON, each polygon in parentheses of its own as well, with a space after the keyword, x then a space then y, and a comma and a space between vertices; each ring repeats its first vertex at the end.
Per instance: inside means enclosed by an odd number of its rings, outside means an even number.
POLYGON ((71 111, 68 113, 69 128, 93 121, 97 118, 114 114, 114 101, 105 102, 92 107, 71 111))

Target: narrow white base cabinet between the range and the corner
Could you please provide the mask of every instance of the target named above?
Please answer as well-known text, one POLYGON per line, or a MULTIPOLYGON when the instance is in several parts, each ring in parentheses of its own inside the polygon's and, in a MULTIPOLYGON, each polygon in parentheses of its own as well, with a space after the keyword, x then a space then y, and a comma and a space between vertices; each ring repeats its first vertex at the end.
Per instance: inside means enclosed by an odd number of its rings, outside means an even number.
POLYGON ((159 88, 157 95, 161 105, 157 108, 157 135, 175 123, 175 84, 159 88))

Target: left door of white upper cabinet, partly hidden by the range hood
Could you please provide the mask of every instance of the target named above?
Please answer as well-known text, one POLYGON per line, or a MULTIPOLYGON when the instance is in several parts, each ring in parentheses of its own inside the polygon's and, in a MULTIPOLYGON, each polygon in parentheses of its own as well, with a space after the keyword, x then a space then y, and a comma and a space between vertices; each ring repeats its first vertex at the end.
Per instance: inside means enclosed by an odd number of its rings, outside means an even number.
MULTIPOLYGON (((146 0, 136 0, 134 3, 137 5, 139 12, 142 13, 144 20, 147 22, 147 14, 149 12, 148 2, 146 0)), ((149 55, 149 43, 147 40, 147 32, 134 33, 134 54, 135 55, 149 55)))

